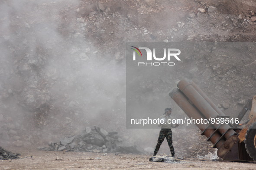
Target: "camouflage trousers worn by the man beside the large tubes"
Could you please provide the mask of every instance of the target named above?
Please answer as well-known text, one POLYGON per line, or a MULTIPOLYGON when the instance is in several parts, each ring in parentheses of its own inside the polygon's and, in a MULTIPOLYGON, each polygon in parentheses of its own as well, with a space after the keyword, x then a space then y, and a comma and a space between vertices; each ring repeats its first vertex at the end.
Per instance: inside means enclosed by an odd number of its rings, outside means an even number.
POLYGON ((164 141, 165 138, 167 139, 167 142, 168 142, 168 145, 169 145, 169 148, 170 148, 170 151, 171 151, 172 155, 175 154, 174 148, 172 146, 172 129, 161 129, 160 132, 159 132, 159 137, 158 137, 158 140, 157 140, 154 155, 156 155, 156 153, 159 151, 159 148, 160 148, 160 146, 161 146, 161 144, 162 144, 162 142, 164 141))

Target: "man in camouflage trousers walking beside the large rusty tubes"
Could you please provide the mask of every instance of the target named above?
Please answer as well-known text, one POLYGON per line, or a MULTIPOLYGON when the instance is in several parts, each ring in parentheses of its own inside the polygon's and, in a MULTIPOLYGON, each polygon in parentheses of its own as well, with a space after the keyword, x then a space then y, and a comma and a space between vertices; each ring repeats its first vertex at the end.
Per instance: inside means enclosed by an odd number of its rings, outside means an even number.
POLYGON ((159 137, 157 140, 157 144, 156 144, 156 148, 155 148, 153 156, 156 156, 162 142, 166 138, 169 148, 170 148, 170 151, 171 151, 171 154, 172 154, 172 157, 174 157, 175 152, 174 152, 174 148, 172 146, 172 128, 178 127, 178 124, 171 123, 171 121, 170 121, 171 113, 172 113, 172 108, 166 108, 164 115, 159 117, 159 120, 160 120, 159 126, 161 126, 161 130, 159 132, 159 137))

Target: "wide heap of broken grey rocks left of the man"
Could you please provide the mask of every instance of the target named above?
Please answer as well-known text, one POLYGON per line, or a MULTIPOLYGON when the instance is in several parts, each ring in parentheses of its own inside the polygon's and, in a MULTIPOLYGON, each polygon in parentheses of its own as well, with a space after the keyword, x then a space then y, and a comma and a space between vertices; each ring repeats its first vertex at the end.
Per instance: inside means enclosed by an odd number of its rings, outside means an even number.
POLYGON ((61 139, 60 142, 49 142, 49 147, 39 149, 45 151, 143 153, 136 145, 123 141, 118 132, 107 132, 97 126, 86 127, 81 135, 68 136, 61 139))

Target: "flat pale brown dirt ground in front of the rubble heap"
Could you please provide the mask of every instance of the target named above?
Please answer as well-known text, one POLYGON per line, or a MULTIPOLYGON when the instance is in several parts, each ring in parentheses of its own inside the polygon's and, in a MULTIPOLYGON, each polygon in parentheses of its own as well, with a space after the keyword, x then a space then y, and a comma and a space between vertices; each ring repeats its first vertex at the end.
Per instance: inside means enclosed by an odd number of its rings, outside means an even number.
POLYGON ((173 164, 149 162, 150 155, 38 151, 8 148, 19 151, 20 159, 1 160, 1 170, 84 170, 84 169, 255 169, 255 162, 200 161, 185 158, 173 164))

